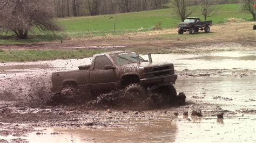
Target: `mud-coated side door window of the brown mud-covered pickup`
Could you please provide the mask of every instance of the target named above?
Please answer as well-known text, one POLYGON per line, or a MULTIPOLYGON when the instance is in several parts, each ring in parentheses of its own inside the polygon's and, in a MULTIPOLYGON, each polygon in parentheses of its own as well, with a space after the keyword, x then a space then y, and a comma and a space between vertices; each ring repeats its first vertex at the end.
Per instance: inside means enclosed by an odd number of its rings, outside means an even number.
POLYGON ((107 65, 113 65, 106 55, 96 56, 94 61, 94 69, 104 69, 107 65))

